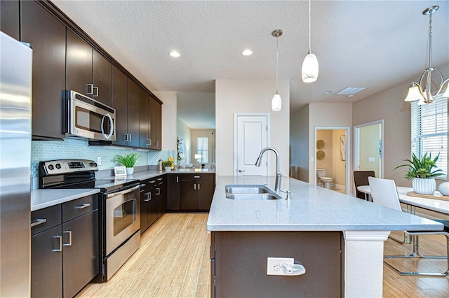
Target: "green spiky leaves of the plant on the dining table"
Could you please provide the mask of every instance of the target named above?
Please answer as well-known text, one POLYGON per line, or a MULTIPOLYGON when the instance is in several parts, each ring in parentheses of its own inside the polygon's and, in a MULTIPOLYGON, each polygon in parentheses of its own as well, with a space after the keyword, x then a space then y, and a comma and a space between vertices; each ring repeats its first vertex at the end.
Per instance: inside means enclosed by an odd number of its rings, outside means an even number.
POLYGON ((443 175, 443 173, 438 173, 439 171, 442 171, 441 169, 432 171, 432 169, 436 168, 436 161, 438 160, 438 157, 440 157, 439 154, 432 159, 431 153, 427 156, 426 152, 421 158, 418 158, 415 153, 413 153, 412 159, 403 159, 403 161, 408 162, 408 164, 401 164, 400 166, 396 166, 394 169, 396 170, 401 166, 408 166, 408 170, 404 176, 408 180, 412 180, 413 178, 435 178, 443 175))

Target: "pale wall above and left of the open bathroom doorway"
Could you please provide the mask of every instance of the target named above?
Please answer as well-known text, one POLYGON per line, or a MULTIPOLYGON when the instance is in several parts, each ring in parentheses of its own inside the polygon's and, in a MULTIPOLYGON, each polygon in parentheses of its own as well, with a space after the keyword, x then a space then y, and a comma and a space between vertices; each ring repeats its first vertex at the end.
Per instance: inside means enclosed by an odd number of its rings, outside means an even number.
MULTIPOLYGON (((369 110, 368 110, 369 111, 369 110)), ((309 183, 315 181, 315 127, 351 127, 351 104, 309 104, 309 183), (313 158, 313 162, 311 161, 313 158)), ((347 140, 351 140, 347 136, 347 140)), ((347 158, 350 158, 347 152, 347 158)))

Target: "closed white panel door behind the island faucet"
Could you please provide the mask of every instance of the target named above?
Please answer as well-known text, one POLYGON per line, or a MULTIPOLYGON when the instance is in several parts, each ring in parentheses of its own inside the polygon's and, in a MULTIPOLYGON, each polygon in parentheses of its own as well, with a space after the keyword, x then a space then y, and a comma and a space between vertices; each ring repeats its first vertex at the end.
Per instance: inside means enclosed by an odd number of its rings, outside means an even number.
POLYGON ((255 166, 260 150, 269 143, 269 114, 235 115, 235 155, 236 176, 269 175, 267 154, 264 154, 260 166, 255 166))

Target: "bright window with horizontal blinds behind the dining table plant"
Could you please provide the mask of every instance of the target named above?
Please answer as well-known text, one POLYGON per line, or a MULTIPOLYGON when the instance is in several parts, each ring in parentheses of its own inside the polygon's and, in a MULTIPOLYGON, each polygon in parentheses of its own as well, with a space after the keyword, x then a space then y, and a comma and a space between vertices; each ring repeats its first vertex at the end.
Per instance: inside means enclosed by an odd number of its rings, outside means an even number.
POLYGON ((419 106, 418 101, 411 103, 412 152, 417 156, 430 152, 436 155, 436 166, 448 175, 448 99, 438 97, 434 103, 419 106))

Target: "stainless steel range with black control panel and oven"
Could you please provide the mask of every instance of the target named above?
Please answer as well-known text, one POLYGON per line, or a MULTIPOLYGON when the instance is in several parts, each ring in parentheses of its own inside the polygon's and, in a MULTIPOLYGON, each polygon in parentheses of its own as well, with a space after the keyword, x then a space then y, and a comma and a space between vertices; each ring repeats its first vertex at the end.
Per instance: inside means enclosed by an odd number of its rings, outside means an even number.
POLYGON ((88 159, 39 162, 39 188, 99 188, 100 268, 95 282, 108 281, 140 246, 140 180, 95 179, 88 159))

